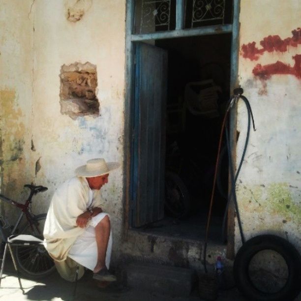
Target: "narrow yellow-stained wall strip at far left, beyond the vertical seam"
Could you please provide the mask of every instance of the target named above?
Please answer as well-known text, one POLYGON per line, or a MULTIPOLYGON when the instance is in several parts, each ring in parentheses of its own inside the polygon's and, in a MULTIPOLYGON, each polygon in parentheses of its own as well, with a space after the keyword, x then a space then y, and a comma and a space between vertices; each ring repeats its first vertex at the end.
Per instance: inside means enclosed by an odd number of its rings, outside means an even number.
MULTIPOLYGON (((1 0, 0 7, 0 192, 21 200, 33 174, 31 1, 1 0)), ((2 214, 14 212, 1 203, 2 214)))

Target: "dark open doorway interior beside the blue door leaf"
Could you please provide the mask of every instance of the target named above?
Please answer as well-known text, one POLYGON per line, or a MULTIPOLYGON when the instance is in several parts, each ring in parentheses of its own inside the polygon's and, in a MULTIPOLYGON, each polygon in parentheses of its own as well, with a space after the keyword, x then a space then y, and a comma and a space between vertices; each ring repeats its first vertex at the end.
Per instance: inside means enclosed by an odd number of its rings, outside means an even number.
MULTIPOLYGON (((187 207, 170 207, 164 217, 143 225, 145 231, 202 240, 209 209, 221 123, 230 96, 231 34, 161 39, 152 44, 167 53, 165 183, 180 181, 187 207)), ((225 143, 223 143, 225 146, 225 143)), ((228 193, 228 156, 222 149, 210 237, 220 240, 228 193)), ((168 183, 167 183, 168 184, 168 183)), ((165 189, 177 202, 179 190, 165 189)), ((177 206, 177 204, 176 204, 177 206)))

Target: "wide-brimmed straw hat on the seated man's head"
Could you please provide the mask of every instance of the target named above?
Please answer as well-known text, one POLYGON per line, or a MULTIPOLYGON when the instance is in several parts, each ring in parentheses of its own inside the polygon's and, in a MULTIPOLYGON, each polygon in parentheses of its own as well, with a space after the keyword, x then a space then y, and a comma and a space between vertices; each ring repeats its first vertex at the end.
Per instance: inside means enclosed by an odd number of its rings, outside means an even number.
POLYGON ((118 162, 106 162, 103 158, 90 159, 86 165, 82 165, 75 170, 78 177, 92 178, 110 173, 118 168, 118 162))

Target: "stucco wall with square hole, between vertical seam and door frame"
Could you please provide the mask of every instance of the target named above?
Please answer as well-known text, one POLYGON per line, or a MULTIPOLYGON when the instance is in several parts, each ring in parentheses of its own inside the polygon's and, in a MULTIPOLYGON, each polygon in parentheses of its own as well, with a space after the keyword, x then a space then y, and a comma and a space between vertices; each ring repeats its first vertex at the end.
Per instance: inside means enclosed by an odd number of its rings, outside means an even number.
MULTIPOLYGON (((49 187, 39 208, 46 211, 50 196, 74 176, 75 167, 94 157, 122 164, 125 2, 38 0, 34 5, 32 159, 40 165, 34 181, 49 187), (60 113, 60 68, 87 61, 96 65, 100 116, 73 120, 60 113)), ((122 168, 110 175, 102 195, 118 242, 122 168)))

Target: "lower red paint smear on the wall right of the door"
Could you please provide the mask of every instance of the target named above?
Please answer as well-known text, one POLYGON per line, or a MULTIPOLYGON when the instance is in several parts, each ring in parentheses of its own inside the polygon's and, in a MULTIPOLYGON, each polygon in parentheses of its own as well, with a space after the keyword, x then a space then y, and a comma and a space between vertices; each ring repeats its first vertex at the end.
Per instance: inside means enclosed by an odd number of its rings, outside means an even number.
POLYGON ((268 65, 257 64, 253 69, 253 74, 263 80, 271 78, 273 74, 291 74, 301 78, 301 55, 296 55, 293 59, 295 60, 293 67, 279 60, 268 65))

